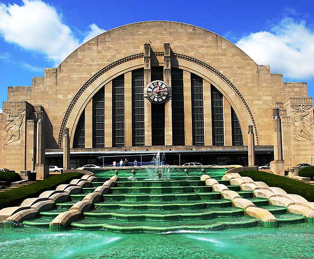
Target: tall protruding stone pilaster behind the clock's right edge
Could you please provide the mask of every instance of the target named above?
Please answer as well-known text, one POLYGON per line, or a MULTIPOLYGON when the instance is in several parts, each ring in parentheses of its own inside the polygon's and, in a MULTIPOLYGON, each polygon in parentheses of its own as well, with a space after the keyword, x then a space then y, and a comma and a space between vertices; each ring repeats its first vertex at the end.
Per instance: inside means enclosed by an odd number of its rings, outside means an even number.
MULTIPOLYGON (((171 94, 171 57, 170 43, 164 44, 163 80, 169 87, 171 94)), ((172 100, 165 103, 165 145, 172 145, 172 100)))

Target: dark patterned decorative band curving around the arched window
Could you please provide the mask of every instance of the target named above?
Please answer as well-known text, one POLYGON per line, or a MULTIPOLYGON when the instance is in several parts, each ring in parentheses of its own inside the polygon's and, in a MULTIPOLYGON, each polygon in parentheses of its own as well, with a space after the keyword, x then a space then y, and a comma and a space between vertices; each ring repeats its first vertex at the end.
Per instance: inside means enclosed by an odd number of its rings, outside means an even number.
MULTIPOLYGON (((163 56, 164 52, 158 51, 158 52, 153 52, 152 55, 155 56, 163 56)), ((207 64, 204 61, 201 61, 197 58, 191 57, 191 56, 187 56, 184 54, 180 54, 180 53, 171 53, 171 56, 179 58, 179 59, 183 59, 183 60, 187 60, 189 62, 195 63, 199 66, 202 66, 204 68, 206 68, 207 70, 213 72, 214 74, 216 74, 217 76, 219 76, 222 80, 224 80, 235 92, 235 94, 240 98, 240 100, 242 101, 245 109, 247 110, 251 121, 252 121, 252 125, 254 128, 254 134, 255 134, 255 139, 256 139, 256 144, 259 145, 259 134, 258 134, 258 130, 257 130, 257 126, 255 123, 255 119, 253 116, 253 113, 248 105, 248 103, 246 102, 244 96, 240 93, 240 91, 235 87, 235 85, 220 71, 216 70, 215 68, 213 68, 212 66, 210 66, 209 64, 207 64)), ((66 127, 67 121, 70 117, 70 114, 74 108, 74 105, 76 104, 76 102, 78 101, 78 98, 83 94, 83 92, 97 79, 99 78, 102 74, 104 74, 106 71, 109 71, 113 68, 115 68, 116 66, 123 64, 125 62, 129 62, 132 61, 134 59, 138 59, 138 58, 144 58, 144 53, 137 53, 137 54, 132 54, 130 56, 118 59, 110 64, 108 64, 107 66, 105 66, 103 69, 101 69, 100 71, 96 72, 94 75, 92 75, 86 82, 85 84, 83 84, 81 86, 81 88, 78 90, 78 92, 75 94, 75 96, 73 97, 73 99, 71 100, 65 114, 64 117, 62 119, 61 122, 61 126, 60 126, 60 131, 59 131, 59 137, 58 137, 58 146, 59 148, 62 147, 62 141, 63 141, 63 135, 64 135, 64 129, 66 127)))

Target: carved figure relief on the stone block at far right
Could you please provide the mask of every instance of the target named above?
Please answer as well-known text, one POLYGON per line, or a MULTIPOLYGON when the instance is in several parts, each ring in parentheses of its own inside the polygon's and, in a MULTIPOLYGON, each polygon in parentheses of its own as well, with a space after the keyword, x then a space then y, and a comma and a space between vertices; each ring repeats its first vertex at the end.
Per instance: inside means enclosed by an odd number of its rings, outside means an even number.
POLYGON ((293 139, 295 141, 307 142, 314 144, 313 130, 313 105, 291 105, 294 119, 293 139))

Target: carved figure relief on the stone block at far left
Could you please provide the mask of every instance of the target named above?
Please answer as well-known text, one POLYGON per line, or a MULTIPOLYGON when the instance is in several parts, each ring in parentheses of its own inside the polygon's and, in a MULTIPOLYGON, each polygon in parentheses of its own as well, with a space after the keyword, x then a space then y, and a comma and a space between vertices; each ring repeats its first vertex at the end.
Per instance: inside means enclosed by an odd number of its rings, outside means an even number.
POLYGON ((6 118, 3 118, 3 125, 5 125, 5 143, 3 145, 3 148, 5 148, 6 145, 20 140, 21 126, 23 124, 23 119, 25 116, 25 109, 3 109, 3 113, 6 114, 6 118))

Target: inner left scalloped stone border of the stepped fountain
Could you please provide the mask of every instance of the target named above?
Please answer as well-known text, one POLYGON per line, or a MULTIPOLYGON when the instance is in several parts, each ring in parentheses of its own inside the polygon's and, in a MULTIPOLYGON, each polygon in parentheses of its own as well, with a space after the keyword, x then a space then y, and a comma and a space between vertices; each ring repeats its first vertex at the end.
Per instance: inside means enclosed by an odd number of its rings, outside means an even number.
MULTIPOLYGON (((94 180, 95 178, 93 178, 94 180)), ((97 179, 97 178, 96 178, 97 179)), ((57 215, 49 225, 52 231, 64 230, 70 226, 71 223, 77 221, 83 216, 84 212, 91 210, 95 203, 103 199, 103 194, 107 194, 109 189, 115 186, 118 181, 118 176, 112 176, 102 186, 97 187, 93 192, 88 193, 83 200, 74 204, 69 211, 62 212, 57 215)), ((82 179, 81 179, 82 180, 82 179)), ((88 178, 89 180, 89 178, 88 178)), ((80 182, 84 181, 79 181, 80 182)))

